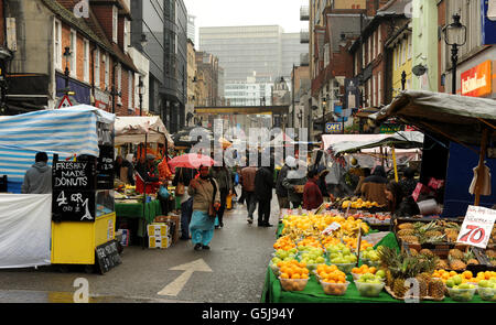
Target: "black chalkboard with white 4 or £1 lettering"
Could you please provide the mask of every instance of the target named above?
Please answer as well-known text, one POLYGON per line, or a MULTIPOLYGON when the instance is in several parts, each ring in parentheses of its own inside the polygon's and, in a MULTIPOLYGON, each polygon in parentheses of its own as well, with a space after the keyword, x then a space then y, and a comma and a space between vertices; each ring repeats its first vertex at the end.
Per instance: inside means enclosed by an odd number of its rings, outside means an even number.
POLYGON ((95 221, 95 192, 53 189, 54 221, 95 221))

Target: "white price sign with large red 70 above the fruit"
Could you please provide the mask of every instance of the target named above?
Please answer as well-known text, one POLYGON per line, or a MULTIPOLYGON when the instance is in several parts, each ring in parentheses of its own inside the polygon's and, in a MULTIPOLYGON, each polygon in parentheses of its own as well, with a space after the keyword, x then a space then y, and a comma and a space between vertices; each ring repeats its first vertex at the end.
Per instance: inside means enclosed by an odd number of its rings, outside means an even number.
POLYGON ((496 210, 481 206, 468 206, 456 241, 485 249, 489 242, 495 220, 496 210))

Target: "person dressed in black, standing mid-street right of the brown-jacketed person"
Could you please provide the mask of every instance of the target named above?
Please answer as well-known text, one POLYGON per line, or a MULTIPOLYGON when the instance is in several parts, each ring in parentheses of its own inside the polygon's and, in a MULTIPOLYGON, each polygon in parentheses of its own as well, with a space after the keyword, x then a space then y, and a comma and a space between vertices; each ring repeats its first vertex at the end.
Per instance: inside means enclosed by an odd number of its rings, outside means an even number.
POLYGON ((270 219, 270 202, 272 201, 273 170, 259 167, 255 175, 255 193, 258 199, 258 227, 272 227, 270 219))

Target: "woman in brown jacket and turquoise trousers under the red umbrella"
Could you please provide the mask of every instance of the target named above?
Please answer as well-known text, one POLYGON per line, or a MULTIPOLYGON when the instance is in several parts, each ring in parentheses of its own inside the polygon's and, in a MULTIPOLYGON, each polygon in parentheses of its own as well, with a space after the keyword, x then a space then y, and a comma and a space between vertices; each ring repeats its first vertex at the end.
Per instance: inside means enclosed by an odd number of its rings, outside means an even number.
POLYGON ((193 197, 193 215, 190 223, 191 240, 195 250, 211 249, 214 238, 216 212, 220 207, 217 182, 208 175, 208 166, 200 166, 200 177, 193 178, 187 194, 193 197))

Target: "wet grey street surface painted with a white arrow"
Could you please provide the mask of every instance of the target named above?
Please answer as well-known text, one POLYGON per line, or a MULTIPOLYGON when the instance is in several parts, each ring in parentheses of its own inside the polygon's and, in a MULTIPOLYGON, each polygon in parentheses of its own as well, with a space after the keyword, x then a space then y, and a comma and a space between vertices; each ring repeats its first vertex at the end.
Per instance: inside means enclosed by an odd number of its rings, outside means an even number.
POLYGON ((0 270, 0 303, 73 303, 82 292, 89 303, 258 303, 278 213, 274 196, 274 227, 258 227, 257 212, 248 225, 246 206, 236 204, 215 230, 211 250, 195 251, 191 240, 168 249, 126 247, 122 263, 103 275, 78 266, 68 272, 54 266, 0 270))

